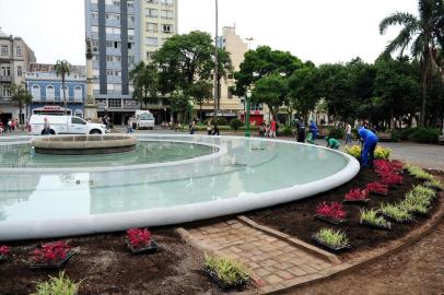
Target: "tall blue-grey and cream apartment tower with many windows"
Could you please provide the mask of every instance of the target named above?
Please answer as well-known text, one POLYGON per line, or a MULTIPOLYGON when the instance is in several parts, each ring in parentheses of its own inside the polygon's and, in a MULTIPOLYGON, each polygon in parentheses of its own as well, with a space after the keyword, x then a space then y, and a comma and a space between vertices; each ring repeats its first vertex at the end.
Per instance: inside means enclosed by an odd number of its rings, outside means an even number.
MULTIPOLYGON (((85 0, 85 30, 97 114, 124 123, 140 109, 129 72, 177 32, 177 0, 85 0)), ((159 119, 166 117, 166 107, 162 102, 149 105, 159 119)))

